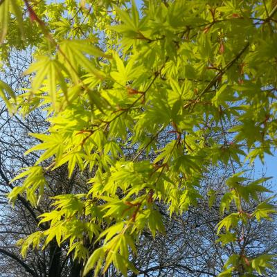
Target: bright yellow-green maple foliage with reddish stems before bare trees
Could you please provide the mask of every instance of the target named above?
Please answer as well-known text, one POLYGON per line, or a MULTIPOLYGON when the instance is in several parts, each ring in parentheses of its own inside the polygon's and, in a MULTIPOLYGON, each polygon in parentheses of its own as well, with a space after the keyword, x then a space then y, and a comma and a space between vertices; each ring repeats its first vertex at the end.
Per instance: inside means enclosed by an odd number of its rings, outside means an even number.
POLYGON ((253 163, 276 147, 276 1, 0 1, 1 62, 11 49, 35 49, 25 71, 26 93, 0 82, 11 113, 44 109, 50 127, 30 134, 41 143, 34 166, 12 181, 10 202, 26 197, 39 206, 48 172, 66 165, 89 172, 87 193, 57 195, 40 216, 48 229, 21 240, 28 247, 69 241, 86 275, 113 264, 127 276, 129 258, 145 229, 165 228, 157 202, 182 214, 204 197, 201 180, 211 166, 231 166, 220 196, 217 225, 222 244, 240 244, 220 276, 255 276, 273 256, 247 257, 243 230, 249 220, 275 213, 267 178, 249 180, 253 163), (226 129, 227 123, 234 123, 226 129), (172 134, 165 144, 161 134, 172 134), (211 134, 220 134, 223 139, 211 134), (135 149, 132 158, 128 148, 135 149), (268 199, 260 202, 260 194, 268 199), (245 203, 256 202, 254 211, 245 203), (231 213, 230 213, 231 211, 231 213), (89 255, 84 241, 97 249, 89 255))

